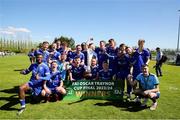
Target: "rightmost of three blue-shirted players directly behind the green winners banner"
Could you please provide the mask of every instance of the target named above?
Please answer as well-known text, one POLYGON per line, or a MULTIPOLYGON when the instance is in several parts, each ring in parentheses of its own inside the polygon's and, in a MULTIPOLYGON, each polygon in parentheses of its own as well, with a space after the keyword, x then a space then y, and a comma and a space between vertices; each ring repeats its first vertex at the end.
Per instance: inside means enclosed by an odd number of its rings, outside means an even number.
POLYGON ((99 80, 113 80, 114 73, 109 69, 107 61, 103 62, 103 69, 99 71, 99 80))

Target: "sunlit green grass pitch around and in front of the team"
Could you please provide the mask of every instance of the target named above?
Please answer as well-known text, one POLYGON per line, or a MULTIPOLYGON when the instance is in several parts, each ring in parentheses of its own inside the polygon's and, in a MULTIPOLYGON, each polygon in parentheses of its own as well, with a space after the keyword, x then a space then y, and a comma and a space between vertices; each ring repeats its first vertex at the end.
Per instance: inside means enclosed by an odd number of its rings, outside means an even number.
MULTIPOLYGON (((30 62, 25 55, 0 58, 0 119, 178 119, 180 118, 180 66, 164 64, 160 77, 161 96, 155 111, 129 108, 128 104, 107 100, 58 101, 40 104, 27 103, 26 110, 17 116, 19 109, 18 86, 30 75, 20 75, 30 62)), ((150 62, 150 71, 155 72, 150 62)), ((28 101, 27 101, 28 102, 28 101)), ((151 101, 148 102, 151 105, 151 101)))

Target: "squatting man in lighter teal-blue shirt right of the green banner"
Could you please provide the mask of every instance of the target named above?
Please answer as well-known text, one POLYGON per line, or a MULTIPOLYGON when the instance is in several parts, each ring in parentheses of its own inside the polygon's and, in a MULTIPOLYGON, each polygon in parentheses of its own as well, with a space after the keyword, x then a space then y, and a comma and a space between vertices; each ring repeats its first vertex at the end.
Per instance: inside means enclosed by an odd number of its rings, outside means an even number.
POLYGON ((153 102, 150 110, 155 110, 157 107, 157 99, 160 96, 159 80, 156 75, 149 73, 148 65, 142 66, 142 73, 140 73, 133 81, 132 76, 128 76, 129 83, 136 86, 139 83, 139 88, 134 90, 134 94, 140 98, 144 98, 141 106, 146 106, 148 98, 153 102))

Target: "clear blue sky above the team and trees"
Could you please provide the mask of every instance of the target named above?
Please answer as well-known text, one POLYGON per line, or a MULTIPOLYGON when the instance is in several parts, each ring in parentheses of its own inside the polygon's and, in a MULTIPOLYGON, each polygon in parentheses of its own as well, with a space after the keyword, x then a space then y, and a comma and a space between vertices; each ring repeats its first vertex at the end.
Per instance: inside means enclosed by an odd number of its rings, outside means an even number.
POLYGON ((0 33, 24 31, 33 41, 63 35, 76 44, 93 37, 96 45, 144 38, 150 49, 176 49, 179 9, 180 0, 0 0, 0 33))

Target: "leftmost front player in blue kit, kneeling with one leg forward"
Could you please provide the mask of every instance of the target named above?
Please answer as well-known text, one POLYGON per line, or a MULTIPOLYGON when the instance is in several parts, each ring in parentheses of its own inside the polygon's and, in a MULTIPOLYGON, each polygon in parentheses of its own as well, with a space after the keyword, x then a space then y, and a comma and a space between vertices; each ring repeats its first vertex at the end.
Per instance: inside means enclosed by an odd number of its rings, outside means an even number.
POLYGON ((19 87, 19 99, 21 104, 21 109, 18 112, 18 115, 25 110, 25 92, 32 90, 34 96, 40 96, 44 80, 50 79, 49 67, 42 62, 43 56, 38 54, 36 56, 36 63, 30 65, 26 70, 21 71, 21 74, 28 74, 32 72, 30 81, 21 85, 19 87))

